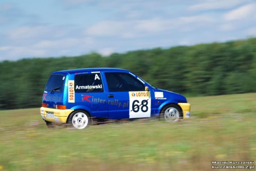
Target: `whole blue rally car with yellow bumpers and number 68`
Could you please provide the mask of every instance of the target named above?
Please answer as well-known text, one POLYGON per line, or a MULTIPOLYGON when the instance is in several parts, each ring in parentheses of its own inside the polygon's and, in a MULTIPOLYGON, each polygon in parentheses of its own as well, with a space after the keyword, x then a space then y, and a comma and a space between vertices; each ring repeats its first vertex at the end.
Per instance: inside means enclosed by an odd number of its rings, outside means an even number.
POLYGON ((41 117, 84 129, 92 118, 126 119, 159 116, 176 122, 189 118, 184 96, 156 89, 130 71, 88 68, 53 72, 42 96, 41 117))

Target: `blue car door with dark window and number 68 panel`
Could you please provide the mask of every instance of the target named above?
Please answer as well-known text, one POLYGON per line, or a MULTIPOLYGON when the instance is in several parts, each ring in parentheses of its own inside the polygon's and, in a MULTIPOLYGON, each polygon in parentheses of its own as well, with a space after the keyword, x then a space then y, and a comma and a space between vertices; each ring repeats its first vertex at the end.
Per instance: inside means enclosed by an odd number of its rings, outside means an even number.
POLYGON ((130 73, 105 73, 110 119, 151 117, 151 95, 130 73))

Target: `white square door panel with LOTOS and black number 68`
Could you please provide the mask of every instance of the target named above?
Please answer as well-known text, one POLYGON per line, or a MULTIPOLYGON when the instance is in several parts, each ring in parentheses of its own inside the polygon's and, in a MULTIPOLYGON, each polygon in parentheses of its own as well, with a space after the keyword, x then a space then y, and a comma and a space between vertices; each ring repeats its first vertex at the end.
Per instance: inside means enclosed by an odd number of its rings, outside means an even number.
POLYGON ((129 118, 145 118, 151 115, 150 92, 129 92, 129 118))

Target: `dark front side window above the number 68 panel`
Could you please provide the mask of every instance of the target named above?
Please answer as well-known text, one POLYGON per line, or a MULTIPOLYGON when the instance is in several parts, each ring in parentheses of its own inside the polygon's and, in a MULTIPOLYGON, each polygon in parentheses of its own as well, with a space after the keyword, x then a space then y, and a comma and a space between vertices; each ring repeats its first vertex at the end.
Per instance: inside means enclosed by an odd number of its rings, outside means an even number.
POLYGON ((145 91, 138 79, 127 73, 105 73, 110 92, 145 91))

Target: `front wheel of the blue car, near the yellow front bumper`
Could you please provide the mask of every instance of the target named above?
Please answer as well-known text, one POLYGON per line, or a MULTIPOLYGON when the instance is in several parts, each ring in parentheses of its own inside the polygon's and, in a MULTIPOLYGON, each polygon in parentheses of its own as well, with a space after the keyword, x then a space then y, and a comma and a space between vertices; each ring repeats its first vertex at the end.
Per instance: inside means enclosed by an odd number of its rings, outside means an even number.
POLYGON ((169 104, 163 108, 160 114, 161 119, 165 119, 168 122, 177 122, 182 115, 180 108, 175 104, 169 104))

